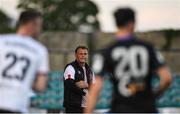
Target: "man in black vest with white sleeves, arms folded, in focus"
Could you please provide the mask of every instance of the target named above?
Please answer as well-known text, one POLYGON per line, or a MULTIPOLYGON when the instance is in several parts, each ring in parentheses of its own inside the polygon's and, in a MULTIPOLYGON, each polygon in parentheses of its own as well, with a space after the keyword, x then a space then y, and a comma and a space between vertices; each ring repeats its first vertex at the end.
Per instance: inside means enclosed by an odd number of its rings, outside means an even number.
POLYGON ((66 113, 82 113, 86 108, 88 88, 95 82, 94 73, 86 63, 88 48, 79 46, 75 50, 76 60, 64 71, 64 107, 66 113))

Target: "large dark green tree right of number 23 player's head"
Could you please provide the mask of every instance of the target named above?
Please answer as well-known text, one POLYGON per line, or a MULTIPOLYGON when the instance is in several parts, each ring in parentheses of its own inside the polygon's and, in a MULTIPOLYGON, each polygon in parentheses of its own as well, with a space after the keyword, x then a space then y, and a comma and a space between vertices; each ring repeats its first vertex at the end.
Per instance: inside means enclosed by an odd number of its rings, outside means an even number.
POLYGON ((98 8, 90 0, 19 0, 18 8, 44 14, 44 30, 78 31, 81 25, 99 29, 98 8))

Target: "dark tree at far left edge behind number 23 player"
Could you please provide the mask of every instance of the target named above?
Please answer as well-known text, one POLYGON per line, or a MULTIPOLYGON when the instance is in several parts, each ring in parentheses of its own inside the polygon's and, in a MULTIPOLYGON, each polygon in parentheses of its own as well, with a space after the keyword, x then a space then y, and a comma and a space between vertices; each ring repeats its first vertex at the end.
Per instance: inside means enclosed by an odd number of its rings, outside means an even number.
POLYGON ((0 10, 0 33, 12 32, 10 27, 11 19, 0 10))

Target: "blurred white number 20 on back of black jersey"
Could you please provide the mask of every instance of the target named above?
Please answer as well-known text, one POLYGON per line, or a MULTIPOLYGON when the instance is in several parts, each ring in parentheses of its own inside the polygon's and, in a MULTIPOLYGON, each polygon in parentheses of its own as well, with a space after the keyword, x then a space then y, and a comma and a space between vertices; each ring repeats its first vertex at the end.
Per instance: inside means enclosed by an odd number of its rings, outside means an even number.
POLYGON ((131 48, 118 47, 113 50, 112 58, 115 61, 121 59, 115 68, 114 74, 116 78, 119 79, 119 92, 123 96, 129 97, 131 96, 131 93, 127 88, 127 84, 129 83, 131 76, 139 78, 145 76, 148 72, 147 50, 140 46, 133 46, 131 48), (138 67, 138 57, 141 67, 138 67), (126 66, 129 66, 129 70, 125 71, 126 66))

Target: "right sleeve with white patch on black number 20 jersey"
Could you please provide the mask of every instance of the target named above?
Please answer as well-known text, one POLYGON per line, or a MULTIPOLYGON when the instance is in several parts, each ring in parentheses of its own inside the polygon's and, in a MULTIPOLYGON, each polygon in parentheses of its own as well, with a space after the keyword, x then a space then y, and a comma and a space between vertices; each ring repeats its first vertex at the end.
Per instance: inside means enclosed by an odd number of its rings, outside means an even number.
POLYGON ((153 70, 158 69, 159 67, 162 67, 165 65, 165 60, 162 54, 159 50, 152 48, 152 54, 150 55, 152 57, 152 68, 153 70))

